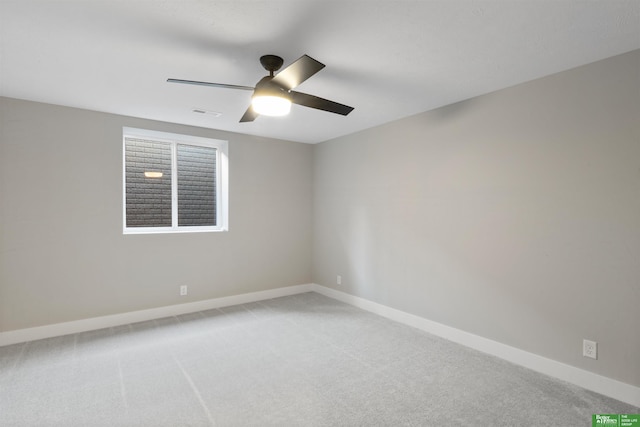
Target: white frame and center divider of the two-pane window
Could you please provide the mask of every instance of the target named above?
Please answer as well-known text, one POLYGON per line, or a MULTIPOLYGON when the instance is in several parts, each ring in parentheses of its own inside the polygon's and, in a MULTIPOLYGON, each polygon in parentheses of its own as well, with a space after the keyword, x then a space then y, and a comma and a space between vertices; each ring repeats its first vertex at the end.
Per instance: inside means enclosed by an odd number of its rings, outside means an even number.
POLYGON ((229 231, 229 143, 221 139, 181 135, 137 128, 122 128, 122 233, 163 234, 229 231), (140 138, 171 144, 171 227, 127 227, 126 139, 140 138), (178 144, 215 148, 216 151, 216 225, 178 226, 178 144))

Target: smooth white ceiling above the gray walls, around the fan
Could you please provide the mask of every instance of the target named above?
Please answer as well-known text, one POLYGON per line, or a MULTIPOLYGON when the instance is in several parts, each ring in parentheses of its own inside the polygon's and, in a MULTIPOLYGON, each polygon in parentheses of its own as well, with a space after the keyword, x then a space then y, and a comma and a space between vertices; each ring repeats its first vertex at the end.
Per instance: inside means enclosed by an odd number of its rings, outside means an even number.
POLYGON ((640 0, 0 0, 0 95, 316 143, 640 48, 640 0), (238 123, 272 53, 326 68, 238 123), (193 109, 220 112, 220 117, 193 109))

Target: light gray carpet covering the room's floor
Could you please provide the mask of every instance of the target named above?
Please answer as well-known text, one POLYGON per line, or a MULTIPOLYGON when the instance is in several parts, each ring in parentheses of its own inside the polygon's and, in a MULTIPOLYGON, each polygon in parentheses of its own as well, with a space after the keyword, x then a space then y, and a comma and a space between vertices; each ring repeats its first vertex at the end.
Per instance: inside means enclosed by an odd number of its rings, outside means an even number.
POLYGON ((315 293, 0 348, 2 426, 590 426, 638 412, 315 293))

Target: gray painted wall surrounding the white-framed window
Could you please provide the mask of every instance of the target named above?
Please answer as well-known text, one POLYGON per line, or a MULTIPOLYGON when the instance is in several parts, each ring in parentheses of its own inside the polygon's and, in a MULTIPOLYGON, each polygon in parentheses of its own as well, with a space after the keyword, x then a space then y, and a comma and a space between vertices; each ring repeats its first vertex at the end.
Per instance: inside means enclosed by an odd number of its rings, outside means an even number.
POLYGON ((312 151, 0 98, 0 331, 309 283, 312 151), (123 126, 228 140, 230 231, 124 236, 123 126))

